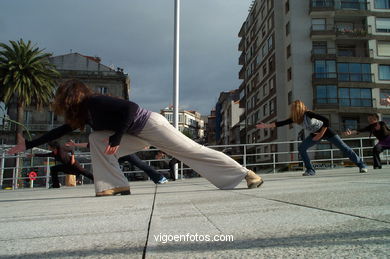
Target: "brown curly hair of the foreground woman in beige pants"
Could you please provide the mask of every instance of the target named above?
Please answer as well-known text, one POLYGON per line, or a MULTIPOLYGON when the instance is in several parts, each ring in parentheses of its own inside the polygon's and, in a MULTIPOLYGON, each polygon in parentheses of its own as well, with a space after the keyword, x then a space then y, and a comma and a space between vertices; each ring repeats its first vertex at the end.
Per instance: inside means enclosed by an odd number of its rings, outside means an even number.
POLYGON ((65 122, 72 128, 83 130, 87 119, 84 101, 93 94, 83 82, 77 79, 67 80, 57 89, 53 104, 54 112, 64 116, 65 122))

